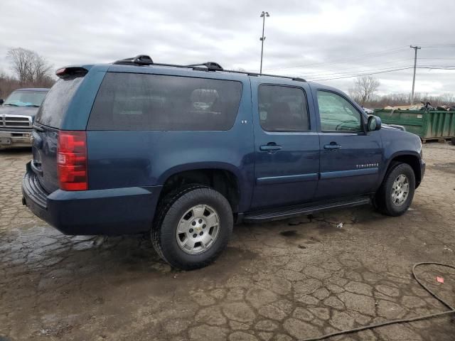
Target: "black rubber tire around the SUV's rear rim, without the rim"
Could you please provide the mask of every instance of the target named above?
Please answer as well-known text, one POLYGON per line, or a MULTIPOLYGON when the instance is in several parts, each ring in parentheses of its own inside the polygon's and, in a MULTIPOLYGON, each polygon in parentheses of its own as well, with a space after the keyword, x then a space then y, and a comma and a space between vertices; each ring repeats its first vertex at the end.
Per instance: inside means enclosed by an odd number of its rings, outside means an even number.
POLYGON ((151 229, 154 249, 171 266, 183 269, 199 269, 212 263, 228 246, 234 224, 232 209, 226 198, 213 188, 189 185, 167 195, 157 209, 159 215, 151 229), (210 205, 220 218, 218 237, 206 251, 188 254, 176 240, 176 228, 181 217, 191 207, 210 205))

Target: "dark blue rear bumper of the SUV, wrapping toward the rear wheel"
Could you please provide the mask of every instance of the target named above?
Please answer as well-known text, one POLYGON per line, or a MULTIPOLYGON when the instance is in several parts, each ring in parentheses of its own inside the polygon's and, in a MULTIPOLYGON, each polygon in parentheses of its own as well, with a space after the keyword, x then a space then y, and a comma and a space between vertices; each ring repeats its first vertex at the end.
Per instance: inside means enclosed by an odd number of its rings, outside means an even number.
POLYGON ((134 234, 149 231, 161 186, 46 193, 27 163, 23 203, 64 234, 134 234))

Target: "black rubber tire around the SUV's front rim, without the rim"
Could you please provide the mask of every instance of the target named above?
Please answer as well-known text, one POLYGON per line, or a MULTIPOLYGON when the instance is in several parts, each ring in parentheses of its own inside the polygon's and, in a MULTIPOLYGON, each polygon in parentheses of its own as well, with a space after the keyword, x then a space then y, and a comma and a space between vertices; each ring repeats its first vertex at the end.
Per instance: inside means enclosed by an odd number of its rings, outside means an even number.
POLYGON ((392 163, 385 175, 382 185, 375 195, 375 207, 384 215, 397 217, 402 215, 410 207, 415 191, 415 175, 412 167, 407 163, 392 163), (405 175, 409 181, 409 193, 406 200, 400 205, 392 200, 392 186, 400 175, 405 175))

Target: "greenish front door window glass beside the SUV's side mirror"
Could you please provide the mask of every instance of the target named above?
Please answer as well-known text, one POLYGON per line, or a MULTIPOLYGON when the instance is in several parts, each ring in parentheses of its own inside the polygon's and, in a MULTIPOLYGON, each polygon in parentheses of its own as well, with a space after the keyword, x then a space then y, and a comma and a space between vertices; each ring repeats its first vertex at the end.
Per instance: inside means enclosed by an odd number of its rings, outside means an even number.
POLYGON ((363 131, 360 112, 339 94, 318 91, 318 105, 322 131, 363 131))

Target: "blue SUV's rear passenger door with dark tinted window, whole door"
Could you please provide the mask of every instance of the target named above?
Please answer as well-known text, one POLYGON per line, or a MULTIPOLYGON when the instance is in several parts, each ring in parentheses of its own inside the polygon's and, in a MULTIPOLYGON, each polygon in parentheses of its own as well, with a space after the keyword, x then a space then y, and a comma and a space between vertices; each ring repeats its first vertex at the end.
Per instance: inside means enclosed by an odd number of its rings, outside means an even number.
POLYGON ((309 87, 305 82, 251 80, 255 121, 252 209, 309 202, 319 173, 319 136, 309 87))

